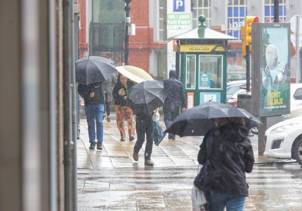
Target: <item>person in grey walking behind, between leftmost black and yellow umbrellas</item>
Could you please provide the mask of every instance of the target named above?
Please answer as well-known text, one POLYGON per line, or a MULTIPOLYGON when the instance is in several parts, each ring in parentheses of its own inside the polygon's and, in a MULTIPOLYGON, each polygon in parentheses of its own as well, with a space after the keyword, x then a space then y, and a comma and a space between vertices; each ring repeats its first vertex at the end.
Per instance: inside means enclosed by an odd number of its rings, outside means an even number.
MULTIPOLYGON (((112 76, 110 76, 106 81, 104 81, 103 83, 103 89, 104 89, 104 95, 105 95, 105 103, 104 103, 104 107, 107 113, 107 121, 110 122, 110 105, 111 102, 113 100, 113 96, 112 96, 112 91, 114 88, 114 85, 117 81, 117 78, 115 76, 115 74, 112 74, 112 76)), ((103 120, 106 117, 105 114, 103 114, 103 120)))

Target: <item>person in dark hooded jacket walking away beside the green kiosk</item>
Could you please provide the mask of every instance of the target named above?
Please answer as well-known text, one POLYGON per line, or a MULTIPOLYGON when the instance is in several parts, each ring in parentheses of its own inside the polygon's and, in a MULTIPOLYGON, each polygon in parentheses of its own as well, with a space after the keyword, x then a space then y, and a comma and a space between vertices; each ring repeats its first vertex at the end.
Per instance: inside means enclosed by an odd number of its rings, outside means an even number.
MULTIPOLYGON (((169 79, 164 80, 164 88, 171 94, 165 99, 163 111, 166 128, 179 115, 179 107, 182 111, 186 108, 186 98, 182 83, 176 79, 176 71, 170 70, 169 79)), ((168 139, 175 140, 175 134, 169 134, 168 139)))

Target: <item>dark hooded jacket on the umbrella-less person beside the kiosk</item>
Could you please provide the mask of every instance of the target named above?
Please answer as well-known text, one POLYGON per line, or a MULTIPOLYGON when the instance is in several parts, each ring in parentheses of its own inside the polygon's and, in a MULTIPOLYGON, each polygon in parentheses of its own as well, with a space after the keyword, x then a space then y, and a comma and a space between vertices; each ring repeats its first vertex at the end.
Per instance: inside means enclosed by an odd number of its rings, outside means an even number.
POLYGON ((165 108, 171 109, 175 107, 186 107, 186 98, 182 83, 176 79, 176 71, 171 70, 169 72, 169 79, 164 80, 164 88, 171 94, 165 99, 165 108))

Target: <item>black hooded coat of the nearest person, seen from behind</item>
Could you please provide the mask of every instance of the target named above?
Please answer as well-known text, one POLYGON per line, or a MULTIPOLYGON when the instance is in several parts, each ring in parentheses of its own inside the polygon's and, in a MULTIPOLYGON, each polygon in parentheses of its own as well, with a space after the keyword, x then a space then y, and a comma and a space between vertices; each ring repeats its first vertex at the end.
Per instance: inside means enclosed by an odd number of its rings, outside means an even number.
MULTIPOLYGON (((204 137, 198 153, 198 162, 204 164, 207 159, 206 140, 204 137)), ((248 129, 243 124, 228 123, 215 129, 208 180, 203 188, 196 178, 194 184, 203 191, 222 194, 248 196, 248 184, 245 172, 252 172, 254 153, 247 138, 248 129)), ((200 176, 200 174, 198 175, 200 176)))

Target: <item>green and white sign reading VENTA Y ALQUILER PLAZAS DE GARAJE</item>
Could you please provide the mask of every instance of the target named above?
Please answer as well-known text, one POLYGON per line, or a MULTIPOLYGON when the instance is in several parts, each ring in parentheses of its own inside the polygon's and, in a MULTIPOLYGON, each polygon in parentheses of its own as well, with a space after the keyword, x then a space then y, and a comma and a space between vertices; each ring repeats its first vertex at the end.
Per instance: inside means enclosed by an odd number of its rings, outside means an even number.
POLYGON ((191 14, 167 14, 168 30, 190 30, 191 14))

